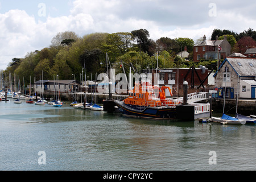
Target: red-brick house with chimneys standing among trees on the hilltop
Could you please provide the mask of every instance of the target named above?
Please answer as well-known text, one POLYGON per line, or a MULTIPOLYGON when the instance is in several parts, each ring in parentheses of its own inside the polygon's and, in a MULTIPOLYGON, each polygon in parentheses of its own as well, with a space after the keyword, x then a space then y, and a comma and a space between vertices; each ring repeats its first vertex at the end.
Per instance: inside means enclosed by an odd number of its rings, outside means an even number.
POLYGON ((200 59, 225 59, 230 55, 230 53, 231 46, 226 39, 226 36, 224 36, 224 40, 218 40, 218 36, 216 36, 216 40, 207 40, 206 36, 204 35, 203 42, 200 42, 193 47, 193 61, 197 62, 200 61, 200 59), (220 46, 219 51, 218 46, 220 46))

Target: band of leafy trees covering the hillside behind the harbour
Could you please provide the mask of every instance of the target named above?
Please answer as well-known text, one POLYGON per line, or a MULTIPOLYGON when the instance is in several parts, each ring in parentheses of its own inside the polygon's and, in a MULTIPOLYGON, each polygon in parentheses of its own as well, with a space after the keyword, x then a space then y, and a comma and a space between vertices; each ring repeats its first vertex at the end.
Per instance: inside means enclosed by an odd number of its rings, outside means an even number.
MULTIPOLYGON (((256 43, 256 31, 249 28, 240 34, 230 30, 214 29, 212 39, 216 35, 223 39, 227 35, 227 40, 232 45, 234 52, 244 52, 241 47, 254 47, 256 43), (253 43, 253 44, 251 44, 253 43)), ((6 69, 6 75, 18 75, 24 77, 26 84, 30 82, 30 77, 34 81, 39 80, 39 76, 44 73, 44 80, 52 80, 53 76, 59 75, 59 79, 70 80, 72 75, 80 80, 82 70, 86 68, 86 74, 94 77, 99 73, 106 72, 106 59, 110 61, 111 67, 116 69, 116 73, 123 72, 120 68, 121 61, 126 73, 129 72, 129 65, 141 73, 143 69, 160 68, 189 68, 191 65, 211 69, 216 60, 199 63, 187 61, 179 56, 178 52, 187 46, 189 52, 188 60, 193 60, 194 41, 189 38, 160 38, 156 41, 150 39, 150 34, 146 29, 134 30, 131 32, 117 32, 114 34, 96 32, 79 37, 75 32, 60 32, 51 42, 51 46, 40 51, 28 52, 24 58, 14 58, 6 69), (156 57, 156 52, 158 55, 156 57), (108 57, 106 57, 108 54, 108 57), (155 55, 155 56, 154 56, 155 55)), ((109 67, 109 65, 108 65, 109 67)))

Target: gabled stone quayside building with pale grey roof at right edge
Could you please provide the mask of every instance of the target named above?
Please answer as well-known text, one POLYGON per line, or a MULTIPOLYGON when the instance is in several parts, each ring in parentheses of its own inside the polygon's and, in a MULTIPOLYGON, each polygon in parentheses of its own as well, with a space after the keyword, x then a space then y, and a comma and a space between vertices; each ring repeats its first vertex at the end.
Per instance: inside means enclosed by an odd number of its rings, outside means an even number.
POLYGON ((218 98, 255 98, 256 59, 249 57, 226 57, 214 74, 214 86, 218 98), (225 92, 226 88, 226 92, 225 92))

